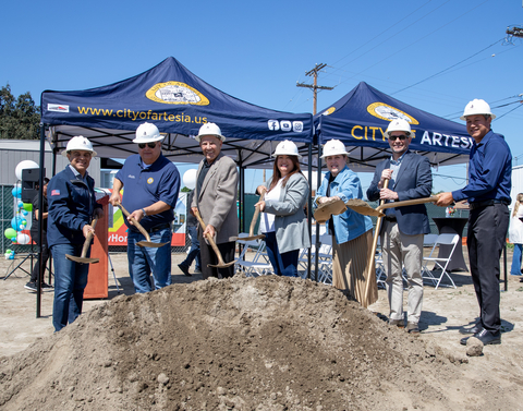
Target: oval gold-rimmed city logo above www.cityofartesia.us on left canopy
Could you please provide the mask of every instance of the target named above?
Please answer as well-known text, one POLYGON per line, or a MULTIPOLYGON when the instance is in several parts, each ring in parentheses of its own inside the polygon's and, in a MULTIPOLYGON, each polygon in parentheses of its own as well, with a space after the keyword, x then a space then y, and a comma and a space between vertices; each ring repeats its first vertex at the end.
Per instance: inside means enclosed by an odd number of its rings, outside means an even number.
POLYGON ((207 106, 209 99, 196 88, 181 82, 157 83, 150 87, 145 96, 153 101, 166 105, 207 106))

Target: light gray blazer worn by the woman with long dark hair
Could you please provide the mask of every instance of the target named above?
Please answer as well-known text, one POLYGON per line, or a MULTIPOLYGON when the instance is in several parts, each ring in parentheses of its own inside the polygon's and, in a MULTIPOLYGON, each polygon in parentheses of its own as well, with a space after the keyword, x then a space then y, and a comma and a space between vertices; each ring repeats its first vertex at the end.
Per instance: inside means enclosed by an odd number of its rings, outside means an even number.
POLYGON ((311 246, 307 218, 303 210, 309 192, 305 177, 302 173, 295 173, 282 188, 279 201, 265 202, 264 213, 275 215, 276 241, 280 253, 311 246))

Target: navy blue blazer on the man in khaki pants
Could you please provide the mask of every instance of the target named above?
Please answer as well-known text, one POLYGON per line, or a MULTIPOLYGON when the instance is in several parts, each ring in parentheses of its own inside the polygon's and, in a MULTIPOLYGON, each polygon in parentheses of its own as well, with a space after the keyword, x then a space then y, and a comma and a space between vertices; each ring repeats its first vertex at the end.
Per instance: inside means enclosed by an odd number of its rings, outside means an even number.
MULTIPOLYGON (((381 172, 390 168, 390 158, 381 161, 376 167, 373 182, 367 190, 367 198, 372 202, 379 200, 378 183, 381 172)), ((433 190, 433 173, 427 157, 406 152, 401 162, 400 171, 394 186, 390 190, 398 193, 398 201, 425 198, 430 196, 433 190)), ((430 226, 425 204, 392 208, 398 219, 400 231, 406 235, 428 234, 430 226)), ((381 226, 381 229, 384 226, 381 226)))

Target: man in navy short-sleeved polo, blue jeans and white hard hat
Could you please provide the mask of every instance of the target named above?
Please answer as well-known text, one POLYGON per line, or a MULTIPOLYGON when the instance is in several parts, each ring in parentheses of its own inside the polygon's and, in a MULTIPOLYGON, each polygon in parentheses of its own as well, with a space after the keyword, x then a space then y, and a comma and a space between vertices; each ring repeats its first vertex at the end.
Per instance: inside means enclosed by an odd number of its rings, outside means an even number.
POLYGON ((131 214, 125 219, 127 226, 129 274, 138 293, 167 287, 171 283, 171 221, 180 191, 180 173, 177 166, 161 155, 163 136, 151 123, 143 123, 136 129, 138 154, 125 160, 117 173, 110 202, 120 202, 131 214), (145 237, 131 222, 136 219, 150 235, 150 241, 167 243, 161 247, 142 247, 137 242, 145 237), (154 283, 150 279, 153 274, 154 283))

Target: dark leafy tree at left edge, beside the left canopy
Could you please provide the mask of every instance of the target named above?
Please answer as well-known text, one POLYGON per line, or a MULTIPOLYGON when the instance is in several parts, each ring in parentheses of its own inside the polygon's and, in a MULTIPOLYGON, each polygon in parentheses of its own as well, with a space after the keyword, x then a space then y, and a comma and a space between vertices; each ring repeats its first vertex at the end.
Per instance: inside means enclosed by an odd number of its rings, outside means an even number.
POLYGON ((0 89, 0 138, 38 140, 40 108, 29 92, 15 99, 9 83, 0 89))

